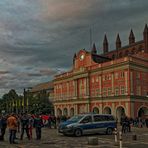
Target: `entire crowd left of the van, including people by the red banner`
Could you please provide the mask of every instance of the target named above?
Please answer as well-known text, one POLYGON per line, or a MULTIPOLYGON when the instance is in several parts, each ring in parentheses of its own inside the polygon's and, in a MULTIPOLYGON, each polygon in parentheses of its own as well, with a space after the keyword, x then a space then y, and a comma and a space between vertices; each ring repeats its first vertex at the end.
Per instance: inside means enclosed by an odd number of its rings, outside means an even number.
POLYGON ((42 127, 57 128, 60 122, 66 121, 66 116, 53 116, 53 115, 31 115, 27 113, 22 114, 8 114, 0 115, 0 141, 4 141, 6 128, 9 129, 9 143, 15 144, 16 139, 23 140, 24 133, 28 140, 32 139, 32 130, 35 128, 36 139, 41 139, 42 127), (20 133, 20 137, 16 136, 20 133))

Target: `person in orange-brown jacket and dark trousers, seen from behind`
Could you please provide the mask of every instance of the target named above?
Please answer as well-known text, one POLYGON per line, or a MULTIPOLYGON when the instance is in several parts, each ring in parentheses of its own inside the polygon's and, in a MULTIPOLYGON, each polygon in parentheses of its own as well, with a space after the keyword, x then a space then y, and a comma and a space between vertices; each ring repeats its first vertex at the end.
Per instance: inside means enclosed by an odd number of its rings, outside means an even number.
POLYGON ((15 135, 17 130, 17 119, 14 114, 11 114, 7 119, 7 126, 9 128, 9 142, 10 144, 17 144, 15 142, 15 135))

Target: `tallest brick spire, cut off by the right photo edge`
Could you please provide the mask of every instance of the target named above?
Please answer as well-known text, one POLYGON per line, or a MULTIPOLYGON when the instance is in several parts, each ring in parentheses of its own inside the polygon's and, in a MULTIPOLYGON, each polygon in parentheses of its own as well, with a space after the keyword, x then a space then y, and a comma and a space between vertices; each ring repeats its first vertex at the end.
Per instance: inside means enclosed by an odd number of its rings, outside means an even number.
POLYGON ((143 31, 143 40, 144 40, 144 52, 148 53, 148 27, 145 24, 145 28, 143 31))

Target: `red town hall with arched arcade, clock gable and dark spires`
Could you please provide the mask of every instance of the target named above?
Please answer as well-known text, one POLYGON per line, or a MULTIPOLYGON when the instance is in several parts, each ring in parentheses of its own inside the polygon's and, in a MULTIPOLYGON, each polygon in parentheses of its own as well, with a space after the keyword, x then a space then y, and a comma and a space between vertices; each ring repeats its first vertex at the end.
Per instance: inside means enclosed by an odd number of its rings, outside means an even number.
POLYGON ((95 44, 74 55, 72 70, 55 76, 55 115, 84 112, 137 117, 148 115, 148 27, 143 40, 135 42, 131 30, 129 45, 122 47, 117 35, 116 49, 108 50, 105 35, 103 54, 95 44))

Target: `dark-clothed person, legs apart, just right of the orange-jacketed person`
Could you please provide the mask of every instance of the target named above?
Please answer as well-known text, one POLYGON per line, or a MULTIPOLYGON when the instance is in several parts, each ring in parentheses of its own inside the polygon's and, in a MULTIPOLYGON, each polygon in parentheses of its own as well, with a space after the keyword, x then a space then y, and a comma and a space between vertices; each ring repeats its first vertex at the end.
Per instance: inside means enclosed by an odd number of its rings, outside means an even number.
POLYGON ((29 118, 28 118, 27 114, 23 114, 23 116, 21 118, 21 138, 20 138, 21 140, 23 140, 24 131, 26 131, 26 135, 27 135, 28 139, 30 140, 29 118))

